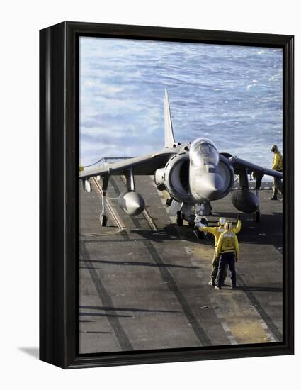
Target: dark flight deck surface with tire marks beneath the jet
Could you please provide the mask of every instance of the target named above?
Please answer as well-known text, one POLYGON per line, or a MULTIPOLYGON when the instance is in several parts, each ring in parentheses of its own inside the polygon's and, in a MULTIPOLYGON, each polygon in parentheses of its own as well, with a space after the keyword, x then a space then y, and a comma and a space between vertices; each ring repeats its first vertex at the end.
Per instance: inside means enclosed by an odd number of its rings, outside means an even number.
MULTIPOLYGON (((135 177, 146 212, 118 206, 123 177, 108 184, 108 225, 102 227, 101 187, 79 195, 79 353, 160 350, 282 341, 283 213, 271 190, 259 192, 261 223, 242 214, 237 235, 238 288, 208 286, 214 238, 197 240, 166 209, 149 176, 135 177)), ((212 202, 210 225, 236 221, 231 194, 212 202)))

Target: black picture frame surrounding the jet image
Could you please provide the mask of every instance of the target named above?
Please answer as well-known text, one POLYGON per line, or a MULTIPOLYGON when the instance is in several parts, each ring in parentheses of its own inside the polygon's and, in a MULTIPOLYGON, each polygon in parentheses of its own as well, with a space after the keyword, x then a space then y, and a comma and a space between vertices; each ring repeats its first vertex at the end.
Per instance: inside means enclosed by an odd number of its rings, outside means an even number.
POLYGON ((292 35, 76 22, 40 30, 40 360, 67 369, 293 354, 293 63, 292 35), (283 48, 283 342, 89 356, 77 353, 81 35, 283 48))

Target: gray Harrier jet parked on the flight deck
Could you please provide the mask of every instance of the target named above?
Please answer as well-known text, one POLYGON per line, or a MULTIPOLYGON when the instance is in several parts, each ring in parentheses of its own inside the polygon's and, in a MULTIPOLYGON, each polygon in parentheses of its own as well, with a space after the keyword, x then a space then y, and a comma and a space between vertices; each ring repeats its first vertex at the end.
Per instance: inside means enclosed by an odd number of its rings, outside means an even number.
POLYGON ((111 175, 120 174, 125 175, 127 181, 127 191, 120 194, 118 199, 118 204, 125 213, 135 216, 144 210, 144 199, 135 191, 135 175, 154 175, 157 189, 169 193, 166 205, 169 206, 170 215, 177 217, 178 225, 183 225, 183 220, 186 220, 192 227, 208 225, 205 216, 211 213, 210 202, 226 196, 232 190, 235 175, 238 175, 240 188, 234 191, 232 203, 243 213, 254 213, 255 220, 259 222, 258 191, 262 177, 267 174, 282 178, 283 174, 229 153, 218 152, 215 144, 208 138, 198 138, 185 145, 176 143, 167 91, 164 99, 164 127, 165 145, 158 152, 79 172, 86 191, 91 191, 90 177, 101 177, 102 225, 107 223, 108 181, 111 175), (255 193, 249 191, 248 174, 253 174, 256 180, 255 193))

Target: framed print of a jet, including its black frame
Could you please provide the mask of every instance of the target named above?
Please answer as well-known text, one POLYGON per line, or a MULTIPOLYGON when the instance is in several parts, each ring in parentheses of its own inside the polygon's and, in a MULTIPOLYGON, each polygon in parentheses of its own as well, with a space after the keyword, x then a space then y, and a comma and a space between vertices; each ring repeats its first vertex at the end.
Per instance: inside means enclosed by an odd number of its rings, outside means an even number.
POLYGON ((40 31, 40 359, 293 353, 293 37, 40 31))

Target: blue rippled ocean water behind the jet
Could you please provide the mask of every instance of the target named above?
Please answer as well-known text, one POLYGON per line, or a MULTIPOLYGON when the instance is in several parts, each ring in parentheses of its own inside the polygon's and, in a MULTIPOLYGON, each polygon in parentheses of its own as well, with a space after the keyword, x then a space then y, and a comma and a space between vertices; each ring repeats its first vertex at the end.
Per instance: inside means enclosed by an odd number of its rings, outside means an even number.
POLYGON ((206 137, 271 167, 283 147, 283 52, 277 48, 80 38, 81 165, 164 146, 164 89, 177 142, 206 137))

